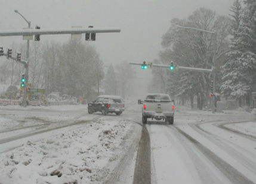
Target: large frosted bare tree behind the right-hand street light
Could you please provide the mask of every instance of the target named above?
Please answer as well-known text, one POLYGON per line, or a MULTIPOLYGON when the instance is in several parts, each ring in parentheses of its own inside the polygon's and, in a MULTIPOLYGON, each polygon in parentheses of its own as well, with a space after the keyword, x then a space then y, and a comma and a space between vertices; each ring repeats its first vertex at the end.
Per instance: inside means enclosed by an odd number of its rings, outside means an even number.
MULTIPOLYGON (((184 27, 194 27, 202 30, 217 31, 217 59, 223 60, 223 49, 226 49, 229 40, 230 20, 226 16, 216 15, 211 9, 200 8, 188 18, 171 20, 171 27, 162 37, 164 50, 159 53, 159 61, 170 64, 174 61, 180 66, 195 68, 211 68, 214 50, 213 34, 203 31, 177 28, 175 24, 184 27)), ((217 62, 217 67, 219 66, 217 62)), ((156 74, 160 75, 160 74, 156 74)), ((199 108, 207 100, 209 94, 209 74, 192 71, 169 71, 165 80, 166 91, 171 96, 187 97, 193 107, 194 96, 198 97, 199 108)), ((218 84, 220 77, 217 77, 218 84)), ((218 85, 217 85, 218 86, 218 85)), ((218 88, 217 88, 218 91, 218 88)))

